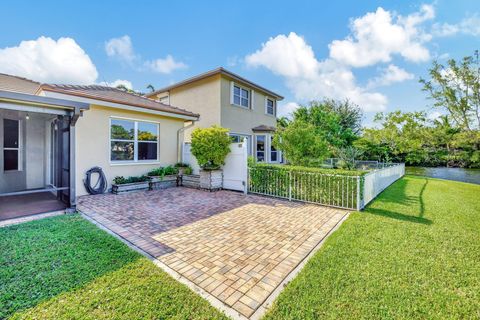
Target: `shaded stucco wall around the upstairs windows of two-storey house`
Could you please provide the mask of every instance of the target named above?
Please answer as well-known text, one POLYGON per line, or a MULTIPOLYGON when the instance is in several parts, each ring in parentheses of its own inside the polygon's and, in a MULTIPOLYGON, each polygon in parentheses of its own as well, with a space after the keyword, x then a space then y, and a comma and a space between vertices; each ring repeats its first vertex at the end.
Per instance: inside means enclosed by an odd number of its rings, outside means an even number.
MULTIPOLYGON (((265 95, 259 91, 254 90, 253 96, 253 108, 246 109, 237 107, 230 103, 230 82, 231 80, 222 77, 221 78, 221 125, 222 127, 229 128, 230 132, 242 133, 252 135, 252 128, 259 125, 267 125, 276 127, 275 116, 265 114, 265 95)), ((244 86, 246 89, 253 89, 248 86, 244 86)), ((275 101, 274 98, 271 98, 275 101)))

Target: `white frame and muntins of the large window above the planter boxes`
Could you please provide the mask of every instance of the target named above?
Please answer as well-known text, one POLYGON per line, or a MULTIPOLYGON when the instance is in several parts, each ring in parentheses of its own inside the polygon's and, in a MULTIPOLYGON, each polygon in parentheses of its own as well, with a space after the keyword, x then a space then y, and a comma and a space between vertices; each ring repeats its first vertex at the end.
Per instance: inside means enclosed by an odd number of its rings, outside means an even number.
POLYGON ((124 117, 110 117, 108 126, 108 159, 111 165, 132 165, 132 164, 158 164, 160 163, 160 122, 143 119, 133 119, 124 117), (112 139, 112 120, 124 120, 134 123, 133 140, 112 139), (138 141, 138 123, 153 123, 157 125, 157 141, 138 141), (112 160, 112 141, 119 142, 133 142, 133 160, 112 160), (156 143, 157 144, 157 159, 139 160, 138 159, 138 143, 156 143))

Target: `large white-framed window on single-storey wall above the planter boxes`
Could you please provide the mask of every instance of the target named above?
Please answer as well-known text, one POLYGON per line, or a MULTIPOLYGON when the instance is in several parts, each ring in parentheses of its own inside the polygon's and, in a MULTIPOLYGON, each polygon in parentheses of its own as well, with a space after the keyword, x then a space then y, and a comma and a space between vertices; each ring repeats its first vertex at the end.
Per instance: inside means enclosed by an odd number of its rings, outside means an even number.
POLYGON ((110 160, 112 162, 158 161, 158 146, 158 123, 110 119, 110 160))

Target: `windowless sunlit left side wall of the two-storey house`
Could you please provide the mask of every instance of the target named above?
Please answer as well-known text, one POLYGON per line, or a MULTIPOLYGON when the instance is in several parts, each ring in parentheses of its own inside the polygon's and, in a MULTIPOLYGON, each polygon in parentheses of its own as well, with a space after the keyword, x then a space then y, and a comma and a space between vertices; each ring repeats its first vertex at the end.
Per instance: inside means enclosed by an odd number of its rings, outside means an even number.
MULTIPOLYGON (((160 93, 157 97, 164 96, 160 93)), ((220 75, 208 77, 195 83, 174 88, 169 92, 170 105, 200 114, 195 126, 185 130, 185 140, 195 128, 220 125, 220 75)))

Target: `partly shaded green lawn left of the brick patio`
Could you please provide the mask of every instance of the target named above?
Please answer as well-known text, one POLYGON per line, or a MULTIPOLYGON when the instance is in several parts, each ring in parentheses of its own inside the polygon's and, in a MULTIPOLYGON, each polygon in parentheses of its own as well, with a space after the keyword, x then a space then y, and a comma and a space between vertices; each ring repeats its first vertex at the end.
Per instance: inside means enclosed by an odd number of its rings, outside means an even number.
POLYGON ((0 228, 0 252, 0 319, 225 318, 78 215, 0 228))

